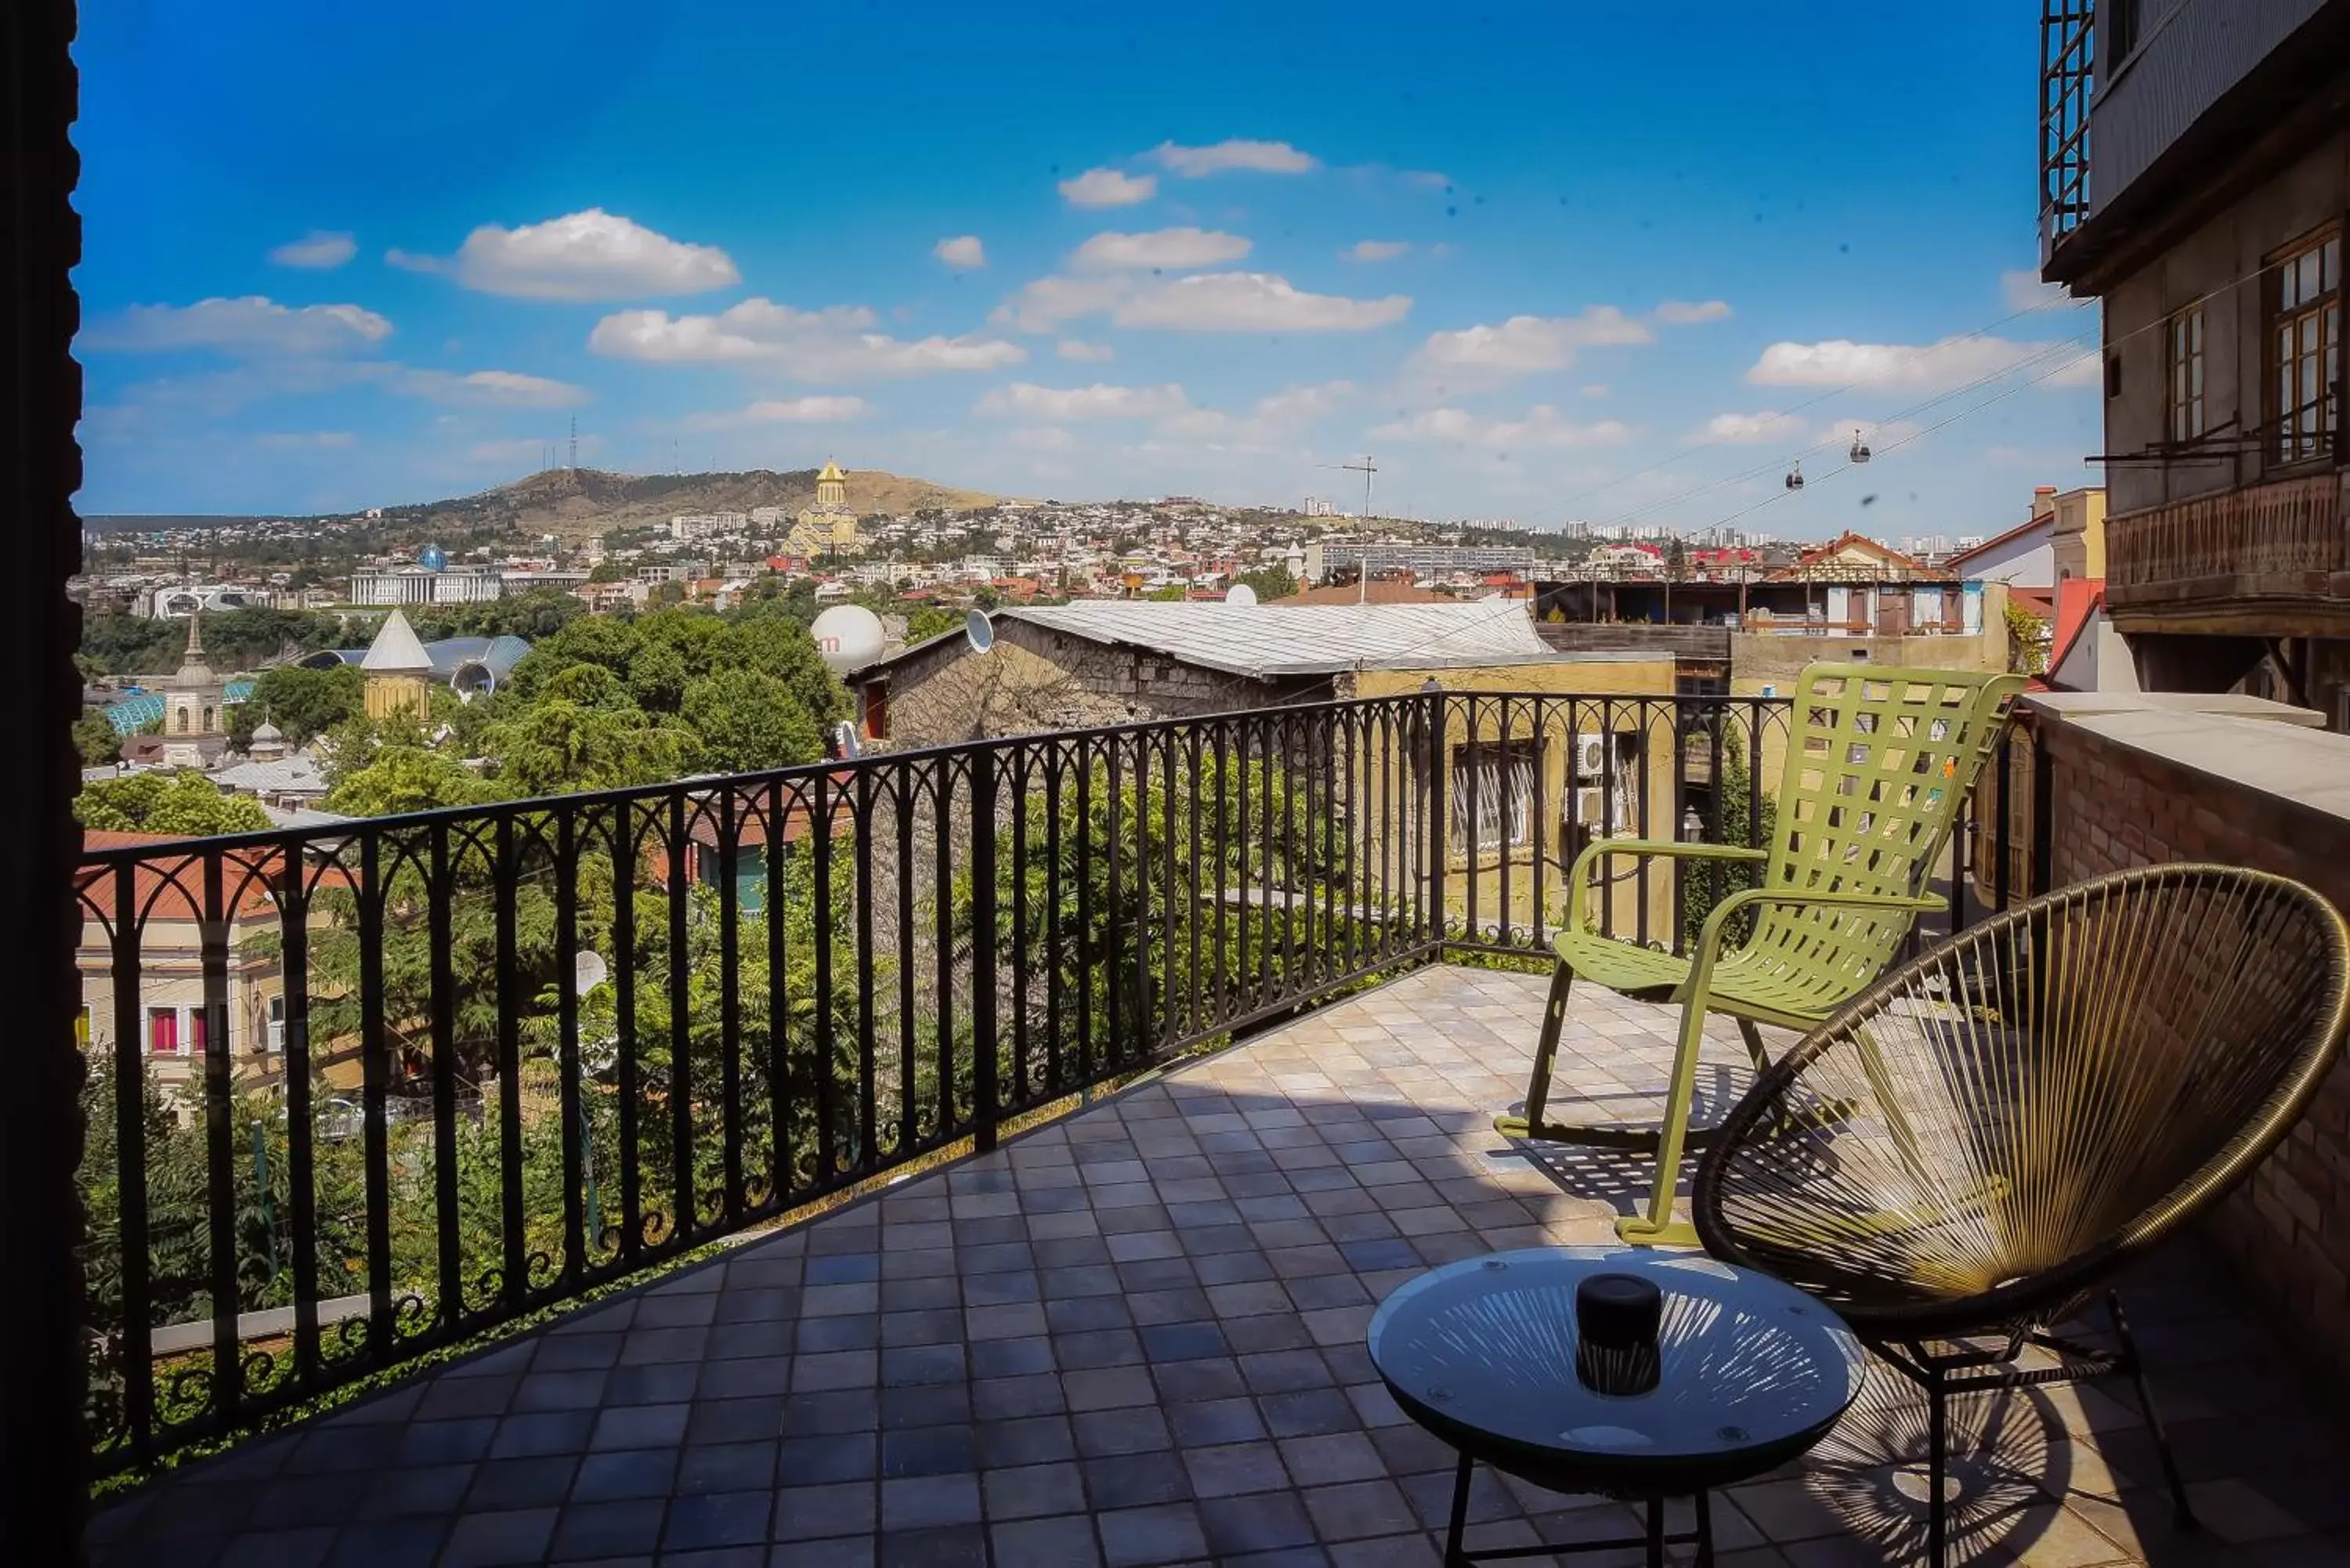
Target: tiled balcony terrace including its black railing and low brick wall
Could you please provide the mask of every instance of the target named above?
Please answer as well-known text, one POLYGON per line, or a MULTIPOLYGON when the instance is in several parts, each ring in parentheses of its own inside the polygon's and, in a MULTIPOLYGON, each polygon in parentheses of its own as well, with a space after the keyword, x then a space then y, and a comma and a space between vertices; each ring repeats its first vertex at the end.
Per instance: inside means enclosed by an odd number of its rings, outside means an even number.
MULTIPOLYGON (((1953 860, 1974 896, 1943 875, 1918 940, 2124 835, 2188 842, 2193 783, 2087 788, 2122 771, 2099 724, 2002 750, 1953 860)), ((89 1554, 1436 1561, 1450 1458, 1379 1389, 1370 1312, 1436 1262, 1607 1241, 1645 1197, 1638 1157, 1492 1133, 1563 872, 1643 830, 1760 842, 1786 750, 1786 701, 1424 691, 94 849, 87 1413, 120 1481, 89 1554), (282 1027, 230 1013, 233 969, 282 1027), (155 1098, 164 1011, 204 1023, 155 1098)), ((2282 830, 2225 858, 2261 844, 2350 865, 2282 830)), ((1610 875, 1591 914, 1680 947, 1720 891, 1610 875)), ((1577 990, 1553 1105, 1638 1119, 1673 1027, 1577 990)), ((1723 1025, 1699 1119, 1744 1081, 1723 1025)), ((2334 1147, 2249 1190, 2282 1265, 2178 1248, 2131 1288, 2209 1530, 2169 1530, 2124 1399, 1983 1394, 1960 1561, 2343 1552, 2343 1422, 2230 1295, 2326 1333, 2303 1298, 2336 1222, 2303 1215, 2334 1147)), ((1723 1549, 1915 1561, 1925 1441, 1873 1382, 1727 1493, 1723 1549)), ((1478 1486, 1471 1549, 1629 1523, 1478 1486)))

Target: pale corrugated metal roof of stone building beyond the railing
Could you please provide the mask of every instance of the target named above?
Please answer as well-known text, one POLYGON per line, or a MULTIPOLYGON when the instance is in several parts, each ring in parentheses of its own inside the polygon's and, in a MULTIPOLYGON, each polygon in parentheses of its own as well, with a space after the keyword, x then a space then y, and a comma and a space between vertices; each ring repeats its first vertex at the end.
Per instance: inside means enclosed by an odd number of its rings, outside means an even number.
POLYGON ((999 609, 1053 632, 1152 649, 1248 677, 1419 670, 1549 658, 1523 599, 1502 604, 1156 604, 999 609))

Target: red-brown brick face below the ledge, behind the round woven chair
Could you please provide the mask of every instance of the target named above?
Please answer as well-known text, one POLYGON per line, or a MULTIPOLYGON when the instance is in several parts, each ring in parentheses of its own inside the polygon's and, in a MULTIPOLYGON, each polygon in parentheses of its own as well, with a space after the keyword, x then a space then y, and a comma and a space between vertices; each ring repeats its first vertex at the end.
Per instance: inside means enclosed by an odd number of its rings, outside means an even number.
MULTIPOLYGON (((2129 865, 2221 860, 2296 877, 2350 910, 2350 820, 2094 726, 2040 724, 2037 743, 2049 759, 2059 886, 2129 865)), ((2350 1058, 2207 1229, 2256 1281, 2280 1331, 2350 1389, 2350 1058)))

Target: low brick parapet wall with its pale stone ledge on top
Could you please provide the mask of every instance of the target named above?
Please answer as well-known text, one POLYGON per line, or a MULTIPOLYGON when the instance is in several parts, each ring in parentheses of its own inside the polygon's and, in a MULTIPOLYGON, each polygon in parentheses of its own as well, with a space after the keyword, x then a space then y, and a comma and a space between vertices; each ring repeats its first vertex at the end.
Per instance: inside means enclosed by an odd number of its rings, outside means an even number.
MULTIPOLYGON (((2319 715, 2225 696, 2035 698, 2033 708, 2056 886, 2129 865, 2221 860, 2296 877, 2350 910, 2350 736, 2308 729, 2319 715)), ((2256 1281, 2277 1326, 2350 1389, 2350 1060, 2207 1229, 2256 1281)))

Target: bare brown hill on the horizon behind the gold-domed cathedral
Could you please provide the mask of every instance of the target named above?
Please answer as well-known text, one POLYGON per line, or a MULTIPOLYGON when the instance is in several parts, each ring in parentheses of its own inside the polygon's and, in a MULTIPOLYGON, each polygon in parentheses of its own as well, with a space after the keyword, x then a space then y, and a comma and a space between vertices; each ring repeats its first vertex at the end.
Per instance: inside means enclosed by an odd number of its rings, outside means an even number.
MULTIPOLYGON (((512 484, 383 508, 390 531, 409 534, 555 534, 564 541, 609 529, 667 522, 677 512, 747 512, 754 505, 799 510, 815 501, 813 468, 771 473, 623 475, 599 468, 550 468, 512 484)), ((996 496, 931 484, 874 468, 848 470, 848 505, 858 512, 912 512, 919 508, 992 505, 996 496)))

